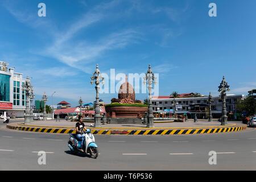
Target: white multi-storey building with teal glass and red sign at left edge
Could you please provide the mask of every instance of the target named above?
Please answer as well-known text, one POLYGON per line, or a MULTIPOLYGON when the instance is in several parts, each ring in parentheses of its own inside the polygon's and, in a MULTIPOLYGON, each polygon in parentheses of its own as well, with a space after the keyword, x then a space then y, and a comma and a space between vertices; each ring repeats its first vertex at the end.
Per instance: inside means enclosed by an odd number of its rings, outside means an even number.
POLYGON ((26 81, 22 73, 8 69, 8 64, 0 61, 0 114, 5 111, 10 116, 24 117, 26 95, 22 85, 26 81))

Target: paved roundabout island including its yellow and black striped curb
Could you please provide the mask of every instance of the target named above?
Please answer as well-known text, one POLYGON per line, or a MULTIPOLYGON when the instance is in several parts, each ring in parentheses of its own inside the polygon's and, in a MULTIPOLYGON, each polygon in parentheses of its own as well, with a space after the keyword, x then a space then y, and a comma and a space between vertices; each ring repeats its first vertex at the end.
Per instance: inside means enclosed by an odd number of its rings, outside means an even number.
MULTIPOLYGON (((33 122, 28 125, 24 123, 10 123, 6 125, 8 129, 19 131, 31 131, 39 133, 75 134, 75 127, 71 122, 33 122)), ((195 135, 229 133, 246 130, 247 126, 241 123, 229 123, 221 126, 219 122, 185 122, 185 123, 155 123, 156 127, 147 128, 142 125, 102 125, 103 127, 90 127, 90 123, 85 123, 88 129, 96 135, 195 135), (168 127, 169 126, 169 127, 168 127), (175 127, 170 127, 175 126, 175 127), (184 127, 183 127, 184 126, 184 127)))

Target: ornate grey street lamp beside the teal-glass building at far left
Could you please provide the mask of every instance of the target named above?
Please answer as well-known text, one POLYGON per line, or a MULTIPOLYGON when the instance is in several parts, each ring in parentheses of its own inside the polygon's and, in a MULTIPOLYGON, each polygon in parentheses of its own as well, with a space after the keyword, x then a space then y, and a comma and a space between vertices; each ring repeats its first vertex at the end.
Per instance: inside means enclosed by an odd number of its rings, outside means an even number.
POLYGON ((22 85, 22 90, 25 92, 26 94, 26 111, 25 111, 25 120, 24 120, 24 124, 29 123, 30 122, 30 93, 32 90, 32 86, 30 84, 30 78, 27 77, 25 84, 22 85))

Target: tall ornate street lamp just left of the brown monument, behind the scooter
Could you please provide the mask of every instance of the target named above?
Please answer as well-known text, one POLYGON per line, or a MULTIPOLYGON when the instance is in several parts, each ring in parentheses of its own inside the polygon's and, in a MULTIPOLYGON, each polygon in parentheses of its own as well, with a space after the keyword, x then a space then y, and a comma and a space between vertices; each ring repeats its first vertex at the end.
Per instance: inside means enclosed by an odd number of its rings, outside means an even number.
POLYGON ((101 127, 101 111, 100 111, 100 102, 99 102, 99 90, 100 90, 100 83, 104 84, 104 77, 101 76, 100 69, 98 69, 98 64, 96 65, 96 70, 93 73, 93 76, 90 77, 93 84, 95 80, 95 89, 96 89, 96 107, 95 107, 95 114, 94 114, 94 127, 101 127))

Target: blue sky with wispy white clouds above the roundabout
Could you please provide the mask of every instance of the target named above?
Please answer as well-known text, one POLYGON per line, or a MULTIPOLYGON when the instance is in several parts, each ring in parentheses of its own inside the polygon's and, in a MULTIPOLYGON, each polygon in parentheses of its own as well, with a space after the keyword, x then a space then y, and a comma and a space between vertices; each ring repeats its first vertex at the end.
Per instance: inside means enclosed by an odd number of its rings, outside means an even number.
MULTIPOLYGON (((94 101, 90 76, 159 73, 159 94, 256 88, 256 1, 1 1, 0 60, 31 76, 36 97, 94 101), (46 3, 46 17, 38 4, 46 3), (217 17, 208 5, 217 4, 217 17)), ((101 94, 105 102, 117 94, 101 94)), ((137 94, 139 100, 146 94, 137 94)), ((51 99, 48 104, 51 104, 51 99)))

